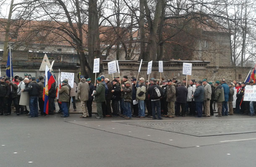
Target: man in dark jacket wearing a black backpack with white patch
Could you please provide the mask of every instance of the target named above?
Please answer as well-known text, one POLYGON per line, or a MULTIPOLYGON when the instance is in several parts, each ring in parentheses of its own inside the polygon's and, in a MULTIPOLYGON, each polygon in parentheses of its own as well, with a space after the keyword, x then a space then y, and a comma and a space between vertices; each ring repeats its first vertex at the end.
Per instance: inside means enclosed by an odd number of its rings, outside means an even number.
POLYGON ((162 98, 162 89, 157 85, 157 79, 153 79, 153 85, 149 87, 148 93, 151 99, 152 105, 152 119, 162 119, 161 118, 161 104, 160 98, 162 98), (157 117, 156 117, 156 108, 157 108, 157 117))

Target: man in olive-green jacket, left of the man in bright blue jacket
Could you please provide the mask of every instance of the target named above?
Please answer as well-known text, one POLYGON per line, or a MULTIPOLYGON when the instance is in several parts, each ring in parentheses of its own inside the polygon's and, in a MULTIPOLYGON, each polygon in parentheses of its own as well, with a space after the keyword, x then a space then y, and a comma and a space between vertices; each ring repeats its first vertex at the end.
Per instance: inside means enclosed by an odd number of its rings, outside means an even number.
POLYGON ((218 107, 218 115, 216 117, 221 117, 222 116, 222 102, 225 101, 224 97, 224 90, 223 86, 220 84, 219 81, 215 82, 215 101, 217 101, 217 107, 218 107))

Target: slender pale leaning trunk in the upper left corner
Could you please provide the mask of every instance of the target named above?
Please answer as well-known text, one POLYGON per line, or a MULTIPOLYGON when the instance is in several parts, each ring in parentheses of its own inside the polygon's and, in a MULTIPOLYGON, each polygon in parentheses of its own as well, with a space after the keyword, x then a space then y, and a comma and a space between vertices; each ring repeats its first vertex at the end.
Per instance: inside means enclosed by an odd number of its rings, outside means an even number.
POLYGON ((8 15, 8 20, 7 20, 7 25, 6 25, 6 32, 5 32, 5 43, 4 43, 4 46, 3 46, 3 60, 4 61, 7 61, 7 58, 8 58, 8 38, 9 38, 9 31, 10 31, 10 20, 11 20, 11 17, 12 17, 12 13, 13 13, 13 1, 11 1, 10 3, 10 10, 9 10, 9 15, 8 15))

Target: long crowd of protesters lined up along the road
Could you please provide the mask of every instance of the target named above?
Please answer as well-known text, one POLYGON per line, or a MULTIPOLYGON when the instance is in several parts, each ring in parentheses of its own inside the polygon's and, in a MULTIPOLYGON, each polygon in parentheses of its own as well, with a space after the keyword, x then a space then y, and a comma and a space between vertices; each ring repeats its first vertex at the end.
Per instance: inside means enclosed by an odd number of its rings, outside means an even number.
MULTIPOLYGON (((213 103, 217 104, 217 117, 238 114, 254 116, 255 102, 243 101, 245 86, 249 83, 233 81, 226 83, 225 79, 208 82, 191 79, 186 86, 186 78, 178 82, 176 78, 162 80, 151 78, 145 81, 143 77, 127 76, 114 77, 112 81, 101 75, 97 84, 91 83, 91 78, 79 76, 79 83, 74 82, 73 88, 68 79, 61 82, 58 90, 57 104, 62 117, 69 116, 69 108, 73 101, 76 111, 76 98, 81 101, 81 118, 92 116, 92 102, 96 102, 97 119, 111 116, 121 116, 125 119, 132 117, 162 119, 162 117, 175 118, 175 116, 210 117, 214 115, 213 103), (233 98, 234 94, 236 99, 233 98), (233 107, 235 101, 235 108, 233 107), (147 110, 147 115, 145 115, 147 110)), ((46 115, 44 107, 48 107, 48 114, 54 114, 57 84, 52 83, 47 92, 49 104, 44 105, 44 77, 31 77, 25 73, 24 78, 14 76, 13 81, 5 76, 0 77, 0 115, 11 114, 12 104, 16 114, 27 114, 29 117, 46 115), (19 105, 21 92, 29 94, 29 110, 19 105), (38 108, 40 112, 38 111, 38 108)))

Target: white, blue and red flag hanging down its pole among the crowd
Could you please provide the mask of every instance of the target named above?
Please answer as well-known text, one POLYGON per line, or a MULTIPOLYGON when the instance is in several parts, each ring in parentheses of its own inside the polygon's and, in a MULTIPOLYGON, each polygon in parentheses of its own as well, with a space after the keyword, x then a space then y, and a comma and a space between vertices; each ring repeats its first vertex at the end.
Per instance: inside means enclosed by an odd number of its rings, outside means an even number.
POLYGON ((43 100, 44 100, 44 113, 49 113, 49 90, 51 89, 52 83, 55 82, 52 74, 50 73, 50 69, 48 66, 45 67, 45 78, 44 78, 44 92, 43 92, 43 100))

